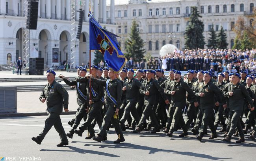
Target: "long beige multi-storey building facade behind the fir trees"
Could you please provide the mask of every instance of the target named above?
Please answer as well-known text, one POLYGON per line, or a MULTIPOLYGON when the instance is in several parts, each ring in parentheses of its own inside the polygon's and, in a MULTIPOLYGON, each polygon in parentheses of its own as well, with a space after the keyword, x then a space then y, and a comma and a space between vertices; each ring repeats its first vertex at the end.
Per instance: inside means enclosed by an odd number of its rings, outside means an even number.
MULTIPOLYGON (((185 48, 185 30, 192 6, 197 6, 204 22, 206 44, 213 25, 215 31, 221 26, 227 34, 228 48, 234 45, 235 33, 232 31, 239 16, 245 17, 249 24, 255 0, 117 0, 115 2, 116 33, 123 38, 129 37, 132 20, 136 20, 145 50, 152 57, 158 57, 161 47, 174 44, 185 48)), ((110 12, 107 5, 107 18, 110 12)), ((124 40, 119 39, 122 51, 126 48, 124 40)), ((207 48, 205 46, 205 48, 207 48)), ((125 52, 125 51, 124 51, 125 52)))

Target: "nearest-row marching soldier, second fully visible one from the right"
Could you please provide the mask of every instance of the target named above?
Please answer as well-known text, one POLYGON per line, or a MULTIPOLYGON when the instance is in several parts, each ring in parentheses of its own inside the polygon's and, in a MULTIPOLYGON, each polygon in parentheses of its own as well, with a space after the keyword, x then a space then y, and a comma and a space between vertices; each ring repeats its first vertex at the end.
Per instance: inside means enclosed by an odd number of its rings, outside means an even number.
POLYGON ((204 132, 207 130, 207 126, 211 129, 211 136, 209 139, 217 138, 216 128, 213 123, 213 108, 215 105, 214 95, 219 97, 219 100, 223 100, 223 94, 219 88, 210 82, 211 73, 209 71, 204 72, 204 82, 199 84, 196 96, 200 97, 200 107, 203 113, 202 124, 200 132, 197 136, 197 140, 202 141, 204 132))

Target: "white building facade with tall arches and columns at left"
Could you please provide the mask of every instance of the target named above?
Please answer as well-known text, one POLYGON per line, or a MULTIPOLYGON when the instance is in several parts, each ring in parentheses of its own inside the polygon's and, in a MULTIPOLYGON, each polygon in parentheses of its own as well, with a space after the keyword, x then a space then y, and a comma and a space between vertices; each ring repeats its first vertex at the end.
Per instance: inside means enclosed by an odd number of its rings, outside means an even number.
MULTIPOLYGON (((22 57, 22 29, 26 27, 23 16, 25 0, 0 0, 0 64, 16 62, 22 57)), ((87 64, 89 61, 89 0, 81 0, 85 10, 82 34, 76 39, 75 64, 87 64)), ((111 0, 114 13, 114 1, 111 0)), ((45 66, 59 66, 60 62, 70 60, 70 0, 39 0, 37 29, 30 30, 30 57, 42 57, 45 66)), ((76 10, 80 0, 76 0, 76 10)), ((91 10, 96 20, 108 31, 116 31, 114 15, 106 15, 106 0, 91 0, 91 10)), ((78 27, 79 13, 76 13, 78 27)), ((94 59, 94 54, 91 54, 94 59)))

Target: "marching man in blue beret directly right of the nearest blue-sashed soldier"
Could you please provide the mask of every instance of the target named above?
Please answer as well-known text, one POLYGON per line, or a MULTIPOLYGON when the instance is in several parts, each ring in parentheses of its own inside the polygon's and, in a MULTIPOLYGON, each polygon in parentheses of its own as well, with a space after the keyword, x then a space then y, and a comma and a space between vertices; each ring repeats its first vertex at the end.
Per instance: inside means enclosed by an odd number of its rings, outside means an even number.
POLYGON ((124 108, 124 113, 122 115, 122 118, 120 119, 120 126, 122 128, 122 131, 125 131, 125 121, 130 116, 130 113, 132 113, 132 116, 134 117, 136 124, 139 123, 139 115, 136 110, 136 104, 139 97, 139 88, 141 87, 141 82, 139 80, 135 79, 134 76, 134 70, 129 69, 127 71, 128 79, 124 80, 124 84, 122 86, 122 91, 124 92, 126 96, 126 107, 124 108))

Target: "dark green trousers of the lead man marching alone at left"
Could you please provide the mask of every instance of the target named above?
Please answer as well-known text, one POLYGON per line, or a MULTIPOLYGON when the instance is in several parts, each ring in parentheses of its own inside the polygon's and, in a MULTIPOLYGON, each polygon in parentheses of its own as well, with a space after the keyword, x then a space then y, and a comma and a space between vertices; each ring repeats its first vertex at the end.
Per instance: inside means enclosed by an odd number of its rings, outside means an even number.
POLYGON ((60 113, 55 112, 48 112, 48 117, 45 120, 45 126, 43 129, 43 132, 37 136, 37 138, 40 141, 43 141, 45 138, 45 135, 50 131, 52 126, 56 129, 56 131, 59 133, 59 137, 61 139, 61 142, 68 143, 68 139, 65 133, 65 130, 62 126, 61 119, 59 117, 60 113))

